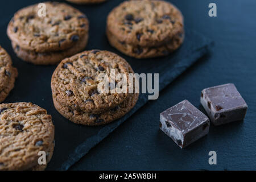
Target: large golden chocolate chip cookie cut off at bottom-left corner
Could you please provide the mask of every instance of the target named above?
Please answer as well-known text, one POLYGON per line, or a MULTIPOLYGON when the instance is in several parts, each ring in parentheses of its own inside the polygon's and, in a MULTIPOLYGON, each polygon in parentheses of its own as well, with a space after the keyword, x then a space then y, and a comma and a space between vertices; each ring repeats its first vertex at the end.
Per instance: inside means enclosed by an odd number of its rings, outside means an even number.
POLYGON ((0 170, 44 169, 39 151, 51 158, 54 126, 51 115, 37 105, 19 102, 0 105, 0 170))

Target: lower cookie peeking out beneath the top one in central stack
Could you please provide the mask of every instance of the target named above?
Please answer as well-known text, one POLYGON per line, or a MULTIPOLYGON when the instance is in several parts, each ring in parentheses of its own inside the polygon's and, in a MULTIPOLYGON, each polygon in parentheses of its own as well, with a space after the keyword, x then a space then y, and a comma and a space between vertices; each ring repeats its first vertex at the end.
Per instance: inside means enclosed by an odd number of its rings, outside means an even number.
POLYGON ((56 110, 70 121, 81 125, 99 126, 123 117, 135 106, 138 97, 139 94, 129 94, 123 103, 100 114, 86 113, 79 109, 74 110, 72 107, 60 104, 55 98, 53 98, 53 103, 56 110))

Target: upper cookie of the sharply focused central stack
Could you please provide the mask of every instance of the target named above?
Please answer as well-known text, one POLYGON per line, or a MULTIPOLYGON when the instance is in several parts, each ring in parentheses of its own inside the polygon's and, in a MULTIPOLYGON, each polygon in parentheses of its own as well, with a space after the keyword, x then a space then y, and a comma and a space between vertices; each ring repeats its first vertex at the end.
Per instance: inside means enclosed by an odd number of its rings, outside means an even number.
MULTIPOLYGON (((114 71, 115 75, 123 73, 127 78, 129 73, 134 73, 125 59, 109 51, 84 51, 66 58, 52 75, 53 98, 61 105, 86 113, 102 113, 113 109, 128 97, 131 81, 127 79, 127 87, 124 88, 126 93, 99 93, 98 76, 104 73, 110 78, 111 71, 114 71)), ((119 82, 115 77, 109 80, 109 86, 119 82)))

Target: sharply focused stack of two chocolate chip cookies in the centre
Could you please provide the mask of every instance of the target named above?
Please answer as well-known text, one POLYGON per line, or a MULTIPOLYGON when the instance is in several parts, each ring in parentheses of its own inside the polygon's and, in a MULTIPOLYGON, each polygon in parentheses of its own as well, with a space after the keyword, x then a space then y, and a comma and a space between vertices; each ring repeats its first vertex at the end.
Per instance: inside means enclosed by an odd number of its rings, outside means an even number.
MULTIPOLYGON (((127 78, 134 73, 126 60, 109 51, 84 51, 61 61, 51 80, 57 111, 72 122, 89 126, 121 118, 135 106, 139 94, 110 92, 120 83, 111 75, 113 71, 116 76, 122 73, 127 78), (109 78, 108 93, 98 91, 98 76, 102 74, 109 78)), ((133 81, 127 81, 127 88, 133 81)))

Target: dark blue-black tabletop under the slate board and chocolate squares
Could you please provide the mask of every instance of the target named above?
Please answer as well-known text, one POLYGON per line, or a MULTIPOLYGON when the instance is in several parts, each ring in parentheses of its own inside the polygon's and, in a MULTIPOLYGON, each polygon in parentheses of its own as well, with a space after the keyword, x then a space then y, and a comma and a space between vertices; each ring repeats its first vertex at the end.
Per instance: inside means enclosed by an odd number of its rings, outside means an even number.
MULTIPOLYGON (((121 2, 110 1, 97 6, 102 8, 111 5, 114 7, 121 2)), ((4 20, 4 22, 1 21, 1 24, 7 24, 16 10, 36 2, 39 1, 26 1, 26 3, 25 1, 1 1, 1 19, 4 20), (11 7, 11 11, 7 7, 11 7)), ((109 137, 90 150, 71 169, 256 169, 256 123, 254 119, 256 111, 256 1, 176 0, 171 2, 183 12, 187 29, 201 32, 214 40, 215 46, 207 56, 200 59, 197 64, 160 92, 158 100, 149 101, 109 137), (217 17, 210 18, 208 16, 210 2, 217 4, 217 17), (237 86, 249 106, 244 122, 234 122, 218 127, 211 125, 207 137, 184 150, 180 150, 170 138, 159 130, 160 112, 184 99, 189 100, 203 111, 199 101, 201 90, 227 82, 233 82, 237 86), (208 164, 208 152, 211 150, 217 152, 216 166, 208 164)), ((95 8, 96 6, 89 7, 95 8)), ((109 8, 110 6, 108 6, 109 8)), ((102 17, 101 11, 93 13, 93 16, 96 17, 90 17, 90 14, 86 15, 89 19, 100 19, 100 22, 104 22, 105 19, 102 17)), ((101 27, 98 22, 91 23, 90 26, 92 29, 101 27)), ((5 30, 1 30, 1 34, 5 34, 5 30)), ((1 41, 8 41, 6 34, 3 39, 1 41)), ((10 46, 10 42, 8 44, 7 46, 10 46)), ((98 42, 90 39, 89 45, 98 47, 98 42)), ((1 46, 5 47, 5 45, 1 46)), ((12 57, 14 56, 11 48, 7 51, 12 57)), ((18 67, 23 64, 15 60, 14 62, 18 67)), ((35 75, 31 77, 31 85, 33 82, 38 84, 51 77, 52 68, 41 67, 49 73, 45 78, 40 77, 37 70, 33 70, 34 67, 27 65, 27 68, 31 68, 31 74, 35 75)), ((40 88, 40 92, 48 93, 48 91, 48 87, 40 88)), ((10 101, 20 100, 20 98, 26 97, 27 93, 29 90, 24 88, 10 101)), ((33 96, 36 97, 36 94, 33 96)), ((49 104, 44 100, 49 100, 51 96, 38 97, 43 99, 43 104, 40 106, 46 107, 49 104)), ((68 129, 72 123, 64 122, 64 125, 68 129)), ((69 142, 69 137, 65 135, 65 132, 63 131, 63 136, 59 136, 62 139, 62 143, 60 143, 62 145, 69 142)), ((80 132, 82 130, 77 131, 76 135, 79 136, 80 132)), ((56 151, 55 155, 59 152, 56 151)))

